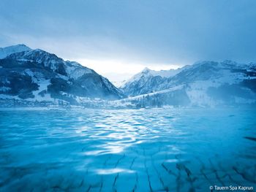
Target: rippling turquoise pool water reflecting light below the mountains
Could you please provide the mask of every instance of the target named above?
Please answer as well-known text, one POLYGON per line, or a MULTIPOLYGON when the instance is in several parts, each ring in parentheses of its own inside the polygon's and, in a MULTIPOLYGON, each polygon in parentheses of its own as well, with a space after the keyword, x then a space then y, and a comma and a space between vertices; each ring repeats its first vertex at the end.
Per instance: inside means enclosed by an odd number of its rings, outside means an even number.
POLYGON ((0 191, 256 185, 252 109, 1 110, 0 118, 0 191))

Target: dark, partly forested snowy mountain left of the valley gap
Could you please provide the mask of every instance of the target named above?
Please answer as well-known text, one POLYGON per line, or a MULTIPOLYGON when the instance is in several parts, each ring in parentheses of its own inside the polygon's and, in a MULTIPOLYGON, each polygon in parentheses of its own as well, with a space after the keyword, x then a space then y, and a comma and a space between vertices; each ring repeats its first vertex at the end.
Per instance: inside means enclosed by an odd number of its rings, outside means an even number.
POLYGON ((26 45, 0 49, 0 98, 77 104, 85 99, 120 99, 108 79, 74 61, 26 45))

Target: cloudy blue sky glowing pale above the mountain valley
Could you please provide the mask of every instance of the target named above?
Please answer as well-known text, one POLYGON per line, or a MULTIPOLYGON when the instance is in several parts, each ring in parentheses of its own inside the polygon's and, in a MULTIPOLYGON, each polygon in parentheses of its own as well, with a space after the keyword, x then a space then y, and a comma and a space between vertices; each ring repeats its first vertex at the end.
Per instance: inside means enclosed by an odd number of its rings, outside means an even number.
POLYGON ((195 61, 256 61, 255 0, 1 0, 0 47, 23 43, 122 80, 195 61))

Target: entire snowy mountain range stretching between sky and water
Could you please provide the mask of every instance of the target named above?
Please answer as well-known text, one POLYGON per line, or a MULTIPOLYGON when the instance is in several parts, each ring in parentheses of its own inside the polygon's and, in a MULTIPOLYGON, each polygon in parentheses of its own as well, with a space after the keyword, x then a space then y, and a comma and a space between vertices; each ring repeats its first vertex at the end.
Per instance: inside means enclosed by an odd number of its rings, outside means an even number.
POLYGON ((255 104, 256 64, 202 61, 159 72, 146 68, 116 88, 77 62, 14 45, 0 48, 0 98, 4 105, 88 106, 91 101, 94 106, 108 101, 129 107, 255 104))

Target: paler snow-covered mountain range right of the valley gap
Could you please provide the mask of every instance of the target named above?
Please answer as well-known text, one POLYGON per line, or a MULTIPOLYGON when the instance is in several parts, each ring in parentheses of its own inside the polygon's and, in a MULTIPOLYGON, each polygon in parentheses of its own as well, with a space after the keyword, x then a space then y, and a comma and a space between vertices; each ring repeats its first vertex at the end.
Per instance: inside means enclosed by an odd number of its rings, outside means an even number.
POLYGON ((124 101, 148 105, 218 105, 256 102, 256 64, 202 61, 163 77, 146 69, 121 89, 124 101))

